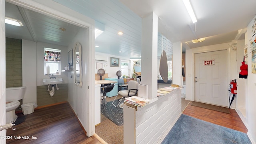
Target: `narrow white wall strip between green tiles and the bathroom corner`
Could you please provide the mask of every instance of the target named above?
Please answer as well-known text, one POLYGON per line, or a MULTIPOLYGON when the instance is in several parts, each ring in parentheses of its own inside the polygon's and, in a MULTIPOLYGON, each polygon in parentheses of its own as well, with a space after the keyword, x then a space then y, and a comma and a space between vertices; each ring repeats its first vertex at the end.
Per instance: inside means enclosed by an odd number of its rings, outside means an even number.
POLYGON ((22 40, 22 86, 26 86, 23 104, 36 103, 36 42, 22 40))

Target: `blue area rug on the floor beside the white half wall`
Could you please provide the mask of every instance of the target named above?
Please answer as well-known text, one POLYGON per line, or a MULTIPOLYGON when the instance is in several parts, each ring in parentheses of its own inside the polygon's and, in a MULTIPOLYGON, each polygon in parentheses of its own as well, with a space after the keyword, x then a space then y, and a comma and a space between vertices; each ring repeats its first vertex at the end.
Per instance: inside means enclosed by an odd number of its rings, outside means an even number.
POLYGON ((247 134, 182 114, 161 144, 252 144, 247 134))

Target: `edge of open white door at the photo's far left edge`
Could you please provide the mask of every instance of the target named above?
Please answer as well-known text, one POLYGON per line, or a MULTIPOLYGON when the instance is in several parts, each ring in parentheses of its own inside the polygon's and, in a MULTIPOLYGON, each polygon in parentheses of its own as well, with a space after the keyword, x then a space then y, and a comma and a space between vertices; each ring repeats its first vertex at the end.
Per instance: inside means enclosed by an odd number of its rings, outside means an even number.
MULTIPOLYGON (((5 1, 0 1, 0 126, 5 125, 5 1)), ((0 132, 0 136, 5 136, 6 130, 0 132)), ((0 138, 0 144, 5 144, 6 140, 0 138)))

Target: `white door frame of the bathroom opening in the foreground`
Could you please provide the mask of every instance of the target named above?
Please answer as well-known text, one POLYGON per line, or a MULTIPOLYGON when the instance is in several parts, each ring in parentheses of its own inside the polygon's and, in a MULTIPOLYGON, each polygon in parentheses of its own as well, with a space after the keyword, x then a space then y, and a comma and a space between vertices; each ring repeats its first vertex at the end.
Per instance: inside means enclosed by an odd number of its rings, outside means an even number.
POLYGON ((94 100, 94 88, 95 88, 95 78, 94 78, 94 72, 90 71, 90 69, 94 69, 94 59, 95 59, 95 50, 94 50, 94 23, 95 21, 92 20, 91 18, 88 18, 87 16, 80 14, 74 10, 71 10, 72 12, 75 12, 76 15, 71 15, 70 9, 68 9, 65 6, 61 6, 63 9, 60 7, 54 8, 54 1, 44 1, 40 4, 38 2, 32 1, 32 0, 6 0, 6 2, 10 2, 12 4, 15 4, 17 6, 21 6, 23 8, 27 8, 29 10, 44 14, 46 16, 50 16, 52 18, 56 18, 58 20, 62 20, 64 22, 68 22, 70 24, 79 26, 81 28, 87 28, 88 31, 88 78, 87 78, 87 83, 88 84, 88 91, 87 91, 87 96, 88 96, 88 102, 87 102, 87 109, 88 112, 86 112, 87 118, 86 121, 87 123, 84 124, 83 126, 86 129, 87 135, 92 136, 95 133, 95 122, 94 122, 94 115, 95 115, 95 100, 94 100), (51 6, 51 7, 50 7, 51 6), (66 10, 68 9, 68 10, 66 10), (65 11, 66 10, 66 11, 65 11))

